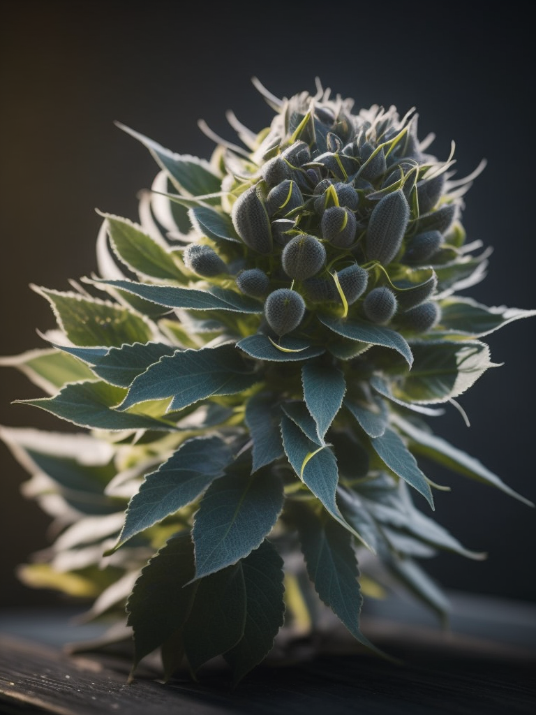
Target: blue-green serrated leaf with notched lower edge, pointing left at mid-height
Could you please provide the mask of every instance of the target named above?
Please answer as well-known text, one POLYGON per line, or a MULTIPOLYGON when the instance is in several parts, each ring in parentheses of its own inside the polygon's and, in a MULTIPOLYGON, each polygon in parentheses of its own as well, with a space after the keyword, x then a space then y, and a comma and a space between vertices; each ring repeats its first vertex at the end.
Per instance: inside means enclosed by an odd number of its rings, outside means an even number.
POLYGON ((234 345, 202 347, 164 355, 139 375, 121 403, 121 410, 173 398, 169 410, 180 410, 212 395, 232 395, 250 388, 258 375, 249 370, 234 345))

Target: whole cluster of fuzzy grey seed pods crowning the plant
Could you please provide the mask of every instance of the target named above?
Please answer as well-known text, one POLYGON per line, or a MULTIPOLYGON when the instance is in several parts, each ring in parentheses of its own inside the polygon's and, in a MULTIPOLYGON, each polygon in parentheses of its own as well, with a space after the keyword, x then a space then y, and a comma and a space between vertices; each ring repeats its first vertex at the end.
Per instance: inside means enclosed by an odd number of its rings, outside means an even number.
MULTIPOLYGON (((444 200, 445 172, 420 150, 415 125, 371 129, 358 119, 318 107, 313 141, 282 139, 239 184, 231 218, 247 265, 235 280, 264 300, 276 335, 330 305, 417 333, 440 320, 435 276, 422 285, 393 282, 389 266, 399 275, 397 266, 427 267, 440 255, 457 216, 457 203, 444 200)), ((207 245, 190 246, 184 261, 206 277, 229 272, 207 245)))

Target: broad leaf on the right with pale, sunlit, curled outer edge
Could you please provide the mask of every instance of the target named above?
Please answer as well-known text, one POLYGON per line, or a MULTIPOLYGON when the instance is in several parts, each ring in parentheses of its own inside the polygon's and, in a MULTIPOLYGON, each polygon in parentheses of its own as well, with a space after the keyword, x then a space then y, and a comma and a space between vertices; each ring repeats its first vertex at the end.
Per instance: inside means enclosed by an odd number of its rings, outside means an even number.
POLYGON ((394 395, 410 403, 443 403, 465 393, 488 368, 490 348, 478 340, 412 345, 415 362, 394 395))

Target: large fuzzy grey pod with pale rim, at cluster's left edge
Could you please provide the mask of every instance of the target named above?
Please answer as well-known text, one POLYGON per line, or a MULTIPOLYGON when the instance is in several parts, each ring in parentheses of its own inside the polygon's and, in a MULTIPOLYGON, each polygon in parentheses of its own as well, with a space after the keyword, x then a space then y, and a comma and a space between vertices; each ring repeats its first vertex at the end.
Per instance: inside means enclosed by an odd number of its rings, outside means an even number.
POLYGON ((246 189, 232 207, 235 230, 244 243, 259 253, 272 252, 272 228, 259 184, 246 189))

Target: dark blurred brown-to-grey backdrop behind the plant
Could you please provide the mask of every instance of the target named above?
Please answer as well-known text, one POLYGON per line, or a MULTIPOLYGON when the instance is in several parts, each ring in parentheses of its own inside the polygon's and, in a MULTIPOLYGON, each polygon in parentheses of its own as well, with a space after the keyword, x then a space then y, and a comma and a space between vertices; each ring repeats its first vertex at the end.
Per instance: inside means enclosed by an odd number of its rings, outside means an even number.
MULTIPOLYGON (((468 240, 492 245, 487 278, 466 292, 487 305, 535 308, 533 282, 535 101, 529 22, 517 2, 471 4, 6 1, 1 12, 0 236, 1 355, 45 347, 36 329, 54 326, 29 283, 69 290, 96 270, 104 212, 137 220, 139 189, 157 171, 149 153, 114 126, 119 120, 183 154, 208 158, 204 119, 234 141, 225 111, 258 131, 273 112, 256 76, 277 97, 314 78, 354 109, 417 107, 420 137, 446 159, 456 142, 457 177, 485 172, 467 194, 468 240), (490 9, 490 7, 494 9, 490 9)), ((536 501, 535 318, 485 338, 488 370, 435 430, 536 501)), ((11 405, 41 396, 13 368, 0 372, 0 424, 55 430, 64 423, 11 405)), ((0 444, 1 606, 57 603, 14 576, 44 548, 49 520, 19 493, 26 473, 0 444)), ((430 473, 452 485, 438 493, 437 520, 487 561, 442 555, 427 569, 445 588, 536 600, 536 511, 485 485, 430 473)), ((426 508, 424 505, 420 505, 426 508)))

